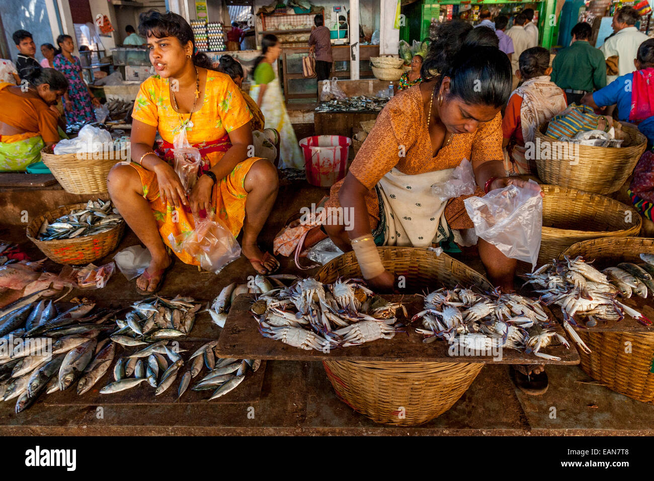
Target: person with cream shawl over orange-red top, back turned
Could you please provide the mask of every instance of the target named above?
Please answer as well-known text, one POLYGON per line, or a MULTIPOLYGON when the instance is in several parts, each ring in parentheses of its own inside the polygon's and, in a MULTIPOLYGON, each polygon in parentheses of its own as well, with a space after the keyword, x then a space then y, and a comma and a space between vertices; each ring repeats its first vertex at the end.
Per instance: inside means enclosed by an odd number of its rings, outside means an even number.
POLYGON ((534 141, 540 124, 566 108, 566 94, 549 80, 552 67, 545 48, 527 48, 518 62, 515 75, 523 84, 513 90, 502 120, 502 147, 508 147, 509 156, 505 168, 509 173, 537 175, 536 160, 525 158, 525 143, 534 141))

